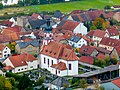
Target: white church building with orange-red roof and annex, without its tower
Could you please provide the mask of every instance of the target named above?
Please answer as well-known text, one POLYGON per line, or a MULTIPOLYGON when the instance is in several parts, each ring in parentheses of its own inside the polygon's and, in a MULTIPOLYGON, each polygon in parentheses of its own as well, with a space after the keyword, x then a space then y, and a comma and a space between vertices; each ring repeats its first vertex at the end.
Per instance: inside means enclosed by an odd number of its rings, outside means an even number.
POLYGON ((51 41, 40 53, 41 68, 58 76, 78 74, 78 57, 66 45, 51 41))

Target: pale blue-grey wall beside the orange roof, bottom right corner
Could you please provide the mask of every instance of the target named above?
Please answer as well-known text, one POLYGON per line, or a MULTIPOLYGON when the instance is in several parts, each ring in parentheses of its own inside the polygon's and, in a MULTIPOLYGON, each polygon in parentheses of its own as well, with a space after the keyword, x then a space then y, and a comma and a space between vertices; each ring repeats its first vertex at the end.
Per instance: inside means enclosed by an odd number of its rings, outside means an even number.
POLYGON ((101 86, 104 87, 105 90, 120 90, 120 88, 117 87, 112 82, 103 83, 103 84, 101 84, 101 86))

